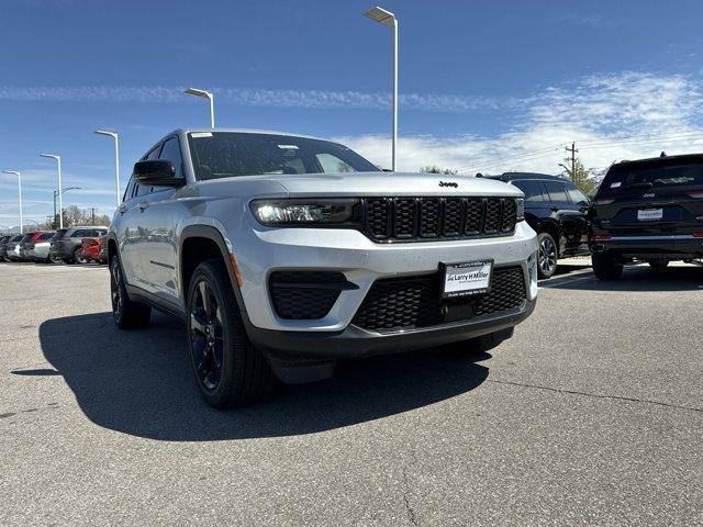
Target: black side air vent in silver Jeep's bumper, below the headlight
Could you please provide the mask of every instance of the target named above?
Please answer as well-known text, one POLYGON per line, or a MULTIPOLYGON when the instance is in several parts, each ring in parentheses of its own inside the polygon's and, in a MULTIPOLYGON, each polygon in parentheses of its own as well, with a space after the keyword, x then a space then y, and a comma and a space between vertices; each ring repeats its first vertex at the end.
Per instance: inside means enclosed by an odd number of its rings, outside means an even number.
POLYGON ((336 271, 276 271, 269 278, 274 310, 288 319, 323 318, 348 285, 336 271))

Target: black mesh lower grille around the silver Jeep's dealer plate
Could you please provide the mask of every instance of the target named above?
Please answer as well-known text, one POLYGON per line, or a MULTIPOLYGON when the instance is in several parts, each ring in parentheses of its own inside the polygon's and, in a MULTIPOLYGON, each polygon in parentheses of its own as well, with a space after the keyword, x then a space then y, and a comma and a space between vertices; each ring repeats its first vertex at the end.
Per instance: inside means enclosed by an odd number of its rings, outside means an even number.
POLYGON ((518 307, 525 300, 521 267, 494 269, 487 294, 448 300, 440 295, 439 272, 388 278, 373 283, 352 323, 378 332, 427 327, 492 315, 518 307))

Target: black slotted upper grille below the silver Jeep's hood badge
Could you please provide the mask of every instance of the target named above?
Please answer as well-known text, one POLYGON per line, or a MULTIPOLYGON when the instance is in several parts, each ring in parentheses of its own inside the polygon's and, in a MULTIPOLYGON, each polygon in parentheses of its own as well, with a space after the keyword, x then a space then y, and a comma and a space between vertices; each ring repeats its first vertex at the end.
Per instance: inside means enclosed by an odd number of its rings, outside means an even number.
POLYGON ((512 234, 514 198, 367 198, 364 231, 375 242, 512 234))

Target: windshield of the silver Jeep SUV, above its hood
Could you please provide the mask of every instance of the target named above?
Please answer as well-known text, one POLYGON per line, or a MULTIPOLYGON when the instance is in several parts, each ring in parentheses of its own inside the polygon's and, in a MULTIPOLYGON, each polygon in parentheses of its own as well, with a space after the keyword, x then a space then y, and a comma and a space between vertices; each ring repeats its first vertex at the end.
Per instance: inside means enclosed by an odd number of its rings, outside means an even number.
POLYGON ((282 173, 373 172, 346 146, 291 135, 241 132, 188 134, 196 179, 282 173))

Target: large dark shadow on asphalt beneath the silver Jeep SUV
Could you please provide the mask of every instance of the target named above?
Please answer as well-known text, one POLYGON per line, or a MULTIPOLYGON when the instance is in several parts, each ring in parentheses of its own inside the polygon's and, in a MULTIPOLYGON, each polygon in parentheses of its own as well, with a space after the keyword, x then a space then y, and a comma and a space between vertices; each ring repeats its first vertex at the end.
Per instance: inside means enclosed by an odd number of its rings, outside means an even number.
POLYGON ((111 313, 99 313, 46 321, 40 339, 89 419, 169 441, 330 430, 466 393, 489 371, 476 358, 447 349, 366 359, 339 365, 332 380, 280 386, 252 407, 217 411, 198 392, 183 333, 179 321, 158 313, 136 332, 121 332, 111 313))

